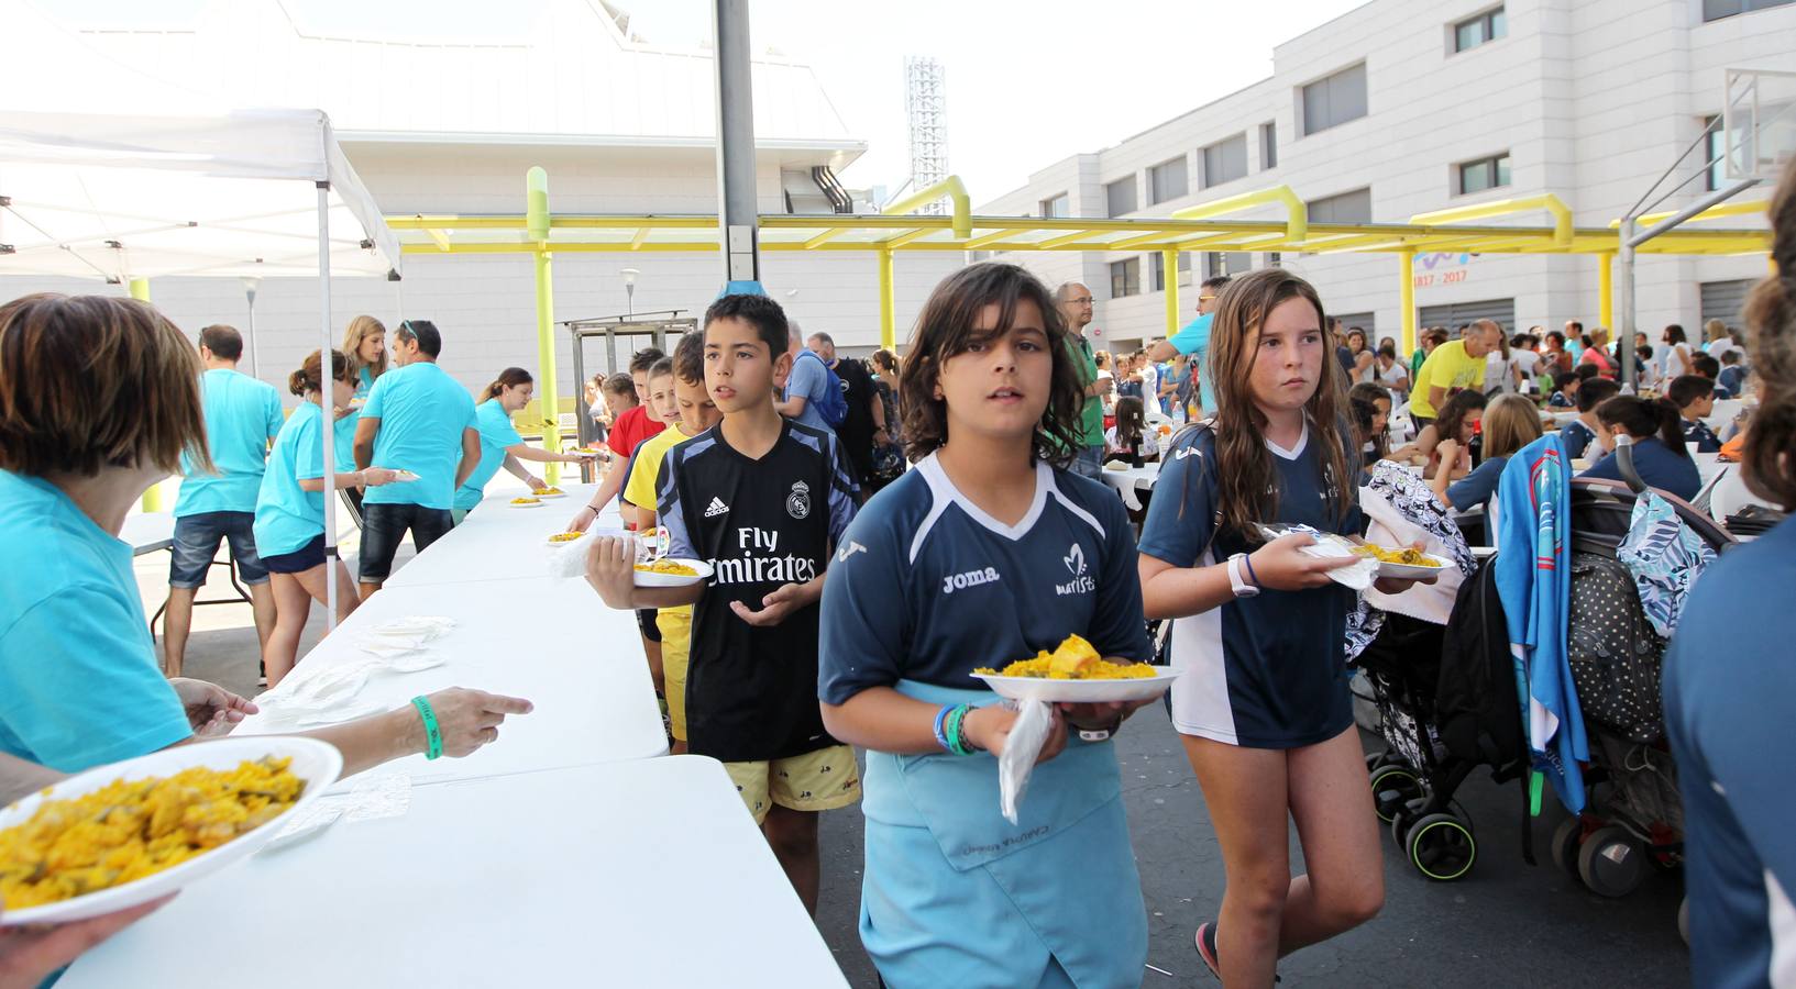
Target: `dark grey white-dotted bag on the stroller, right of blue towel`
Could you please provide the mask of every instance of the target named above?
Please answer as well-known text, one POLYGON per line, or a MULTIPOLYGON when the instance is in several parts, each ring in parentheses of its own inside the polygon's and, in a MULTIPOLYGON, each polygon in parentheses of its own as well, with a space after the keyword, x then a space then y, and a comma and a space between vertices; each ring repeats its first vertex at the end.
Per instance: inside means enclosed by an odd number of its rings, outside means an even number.
POLYGON ((1665 738, 1663 661, 1665 637, 1647 619, 1634 574, 1609 553, 1573 549, 1566 662, 1584 720, 1629 741, 1665 738))

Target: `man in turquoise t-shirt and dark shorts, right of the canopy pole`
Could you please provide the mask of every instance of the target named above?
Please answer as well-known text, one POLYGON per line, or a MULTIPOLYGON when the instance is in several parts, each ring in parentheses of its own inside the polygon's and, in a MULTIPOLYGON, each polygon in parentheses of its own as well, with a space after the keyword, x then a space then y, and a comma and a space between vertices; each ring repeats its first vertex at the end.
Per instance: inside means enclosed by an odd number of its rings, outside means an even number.
POLYGON ((356 424, 356 465, 409 470, 418 479, 374 488, 361 508, 363 596, 386 582, 406 533, 418 553, 444 537, 454 519, 454 490, 480 465, 474 398, 436 366, 442 334, 429 319, 393 330, 399 368, 368 391, 356 424))

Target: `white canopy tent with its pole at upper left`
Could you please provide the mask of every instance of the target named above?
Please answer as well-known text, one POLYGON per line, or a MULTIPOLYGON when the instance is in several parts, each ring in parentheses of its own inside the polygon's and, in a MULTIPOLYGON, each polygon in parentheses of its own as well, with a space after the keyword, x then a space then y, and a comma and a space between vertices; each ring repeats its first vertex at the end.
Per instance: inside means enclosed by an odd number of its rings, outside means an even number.
MULTIPOLYGON (((0 275, 399 278, 399 241, 318 109, 138 117, 0 109, 0 275), (332 230, 336 235, 332 235, 332 230)), ((336 560, 336 443, 325 556, 336 560)), ((336 623, 336 578, 329 578, 336 623)))

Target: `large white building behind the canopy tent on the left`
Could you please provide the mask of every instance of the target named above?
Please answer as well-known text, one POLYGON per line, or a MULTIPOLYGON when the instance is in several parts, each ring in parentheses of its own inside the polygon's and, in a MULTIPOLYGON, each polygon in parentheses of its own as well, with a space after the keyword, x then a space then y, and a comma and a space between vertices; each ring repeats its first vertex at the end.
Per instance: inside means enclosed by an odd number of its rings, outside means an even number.
MULTIPOLYGON (((429 25, 408 38, 316 36, 273 0, 216 0, 190 20, 156 27, 144 27, 147 16, 117 31, 56 31, 79 36, 97 59, 180 79, 224 106, 323 109, 386 215, 523 215, 532 165, 548 171, 555 214, 717 214, 709 52, 650 45, 602 0, 553 0, 528 39, 494 43, 431 39, 429 25)), ((31 108, 25 93, 9 102, 31 108)), ((866 144, 810 68, 756 56, 754 109, 760 212, 842 206, 819 178, 858 158, 866 144)), ((869 210, 864 201, 846 206, 869 210)), ((762 280, 806 332, 828 330, 862 354, 878 345, 876 264, 873 253, 763 253, 762 280)), ((961 264, 954 251, 900 258, 902 328, 961 264)), ((722 284, 722 260, 711 253, 559 253, 555 318, 675 309, 699 316, 722 284), (634 298, 625 294, 625 267, 639 271, 634 298)), ((390 328, 401 318, 433 319, 444 332, 442 366, 480 389, 506 366, 537 368, 533 285, 530 255, 406 255, 401 282, 334 278, 332 325, 347 327, 363 312, 390 328)), ((0 298, 31 291, 124 294, 124 285, 0 276, 0 298)), ((318 346, 318 294, 314 278, 266 278, 257 287, 255 364, 282 391, 318 346)), ((208 323, 248 328, 237 278, 154 278, 151 298, 190 336, 208 323)), ((569 352, 568 334, 557 330, 564 398, 575 395, 569 352)), ((585 366, 605 370, 602 345, 589 345, 585 366)), ((250 370, 248 355, 241 368, 250 370)))

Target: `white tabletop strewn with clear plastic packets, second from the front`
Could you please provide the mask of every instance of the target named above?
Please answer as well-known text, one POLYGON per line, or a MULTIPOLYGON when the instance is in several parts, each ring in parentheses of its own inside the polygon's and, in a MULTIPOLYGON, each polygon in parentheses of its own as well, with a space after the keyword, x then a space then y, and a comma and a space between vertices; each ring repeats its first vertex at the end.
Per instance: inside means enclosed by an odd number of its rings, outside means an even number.
MULTIPOLYGON (((426 646, 447 662, 418 673, 375 673, 354 702, 392 709, 422 693, 476 687, 537 707, 506 720, 499 741, 467 759, 409 756, 375 772, 471 779, 666 752, 636 616, 607 608, 578 578, 386 587, 318 643, 293 677, 368 661, 361 643, 375 626, 415 616, 456 619, 449 635, 426 646)), ((248 718, 237 734, 293 731, 304 729, 291 716, 268 713, 248 718)))

